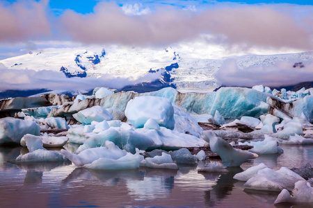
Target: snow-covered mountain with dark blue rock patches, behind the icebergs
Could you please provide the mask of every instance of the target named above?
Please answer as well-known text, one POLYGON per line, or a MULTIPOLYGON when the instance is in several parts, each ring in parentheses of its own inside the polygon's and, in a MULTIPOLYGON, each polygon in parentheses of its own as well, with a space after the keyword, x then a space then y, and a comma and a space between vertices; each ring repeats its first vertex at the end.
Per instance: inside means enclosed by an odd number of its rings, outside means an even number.
MULTIPOLYGON (((106 76, 136 80, 139 86, 159 88, 175 86, 182 90, 213 90, 218 83, 214 74, 224 60, 236 58, 239 68, 271 66, 280 61, 294 63, 313 60, 313 52, 278 55, 242 55, 226 53, 218 46, 204 47, 179 44, 167 48, 142 48, 111 45, 64 49, 41 49, 0 63, 8 69, 51 70, 67 78, 106 76), (225 56, 223 56, 225 55, 225 56)), ((140 91, 140 90, 139 90, 140 91)))

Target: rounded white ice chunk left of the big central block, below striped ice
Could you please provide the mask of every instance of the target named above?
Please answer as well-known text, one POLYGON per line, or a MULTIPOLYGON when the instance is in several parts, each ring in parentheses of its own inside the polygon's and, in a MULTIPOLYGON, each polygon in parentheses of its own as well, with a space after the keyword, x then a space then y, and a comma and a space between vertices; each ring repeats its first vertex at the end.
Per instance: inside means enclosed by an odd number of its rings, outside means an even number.
POLYGON ((93 121, 101 122, 113 119, 112 115, 99 105, 81 110, 76 114, 73 114, 73 117, 83 124, 90 124, 93 121))

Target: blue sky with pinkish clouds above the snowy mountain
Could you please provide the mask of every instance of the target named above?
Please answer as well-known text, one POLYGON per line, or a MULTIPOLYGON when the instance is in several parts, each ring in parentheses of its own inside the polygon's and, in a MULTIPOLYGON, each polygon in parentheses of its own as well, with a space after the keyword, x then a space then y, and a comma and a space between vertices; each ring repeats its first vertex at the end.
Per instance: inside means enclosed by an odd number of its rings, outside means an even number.
MULTIPOLYGON (((0 60, 48 47, 164 47, 202 37, 243 51, 313 51, 313 1, 0 0, 0 60)), ((220 80, 241 78, 236 66, 228 78, 224 68, 220 80)))

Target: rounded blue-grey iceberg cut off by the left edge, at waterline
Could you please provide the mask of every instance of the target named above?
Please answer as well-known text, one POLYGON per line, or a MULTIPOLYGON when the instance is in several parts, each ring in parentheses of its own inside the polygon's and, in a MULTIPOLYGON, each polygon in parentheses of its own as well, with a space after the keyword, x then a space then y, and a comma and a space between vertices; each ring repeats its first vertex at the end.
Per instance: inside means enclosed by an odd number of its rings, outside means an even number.
POLYGON ((0 144, 19 144, 26 134, 40 135, 40 126, 33 121, 24 121, 11 117, 0 119, 0 144))

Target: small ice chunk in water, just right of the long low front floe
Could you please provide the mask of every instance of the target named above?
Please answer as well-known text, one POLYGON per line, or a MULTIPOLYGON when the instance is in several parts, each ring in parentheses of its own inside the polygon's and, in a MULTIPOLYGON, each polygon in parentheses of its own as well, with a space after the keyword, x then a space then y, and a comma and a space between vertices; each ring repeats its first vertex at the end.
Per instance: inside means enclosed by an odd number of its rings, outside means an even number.
POLYGON ((148 168, 178 169, 177 164, 172 162, 172 157, 166 153, 162 153, 161 156, 147 157, 145 165, 148 168))

